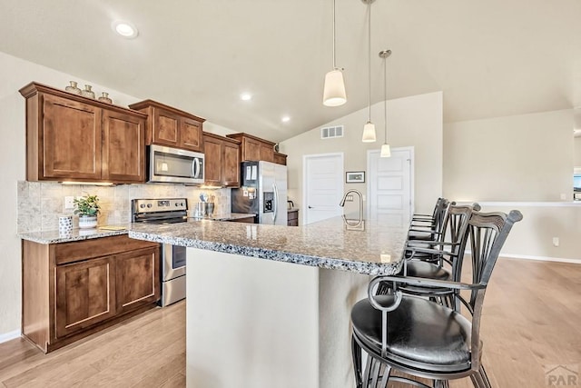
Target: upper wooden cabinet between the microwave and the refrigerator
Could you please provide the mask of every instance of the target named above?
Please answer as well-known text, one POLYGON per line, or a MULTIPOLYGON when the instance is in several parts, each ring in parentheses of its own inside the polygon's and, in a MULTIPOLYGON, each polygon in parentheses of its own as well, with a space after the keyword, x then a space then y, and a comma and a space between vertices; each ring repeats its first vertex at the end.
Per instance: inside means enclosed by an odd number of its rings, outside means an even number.
POLYGON ((204 133, 205 184, 240 187, 240 142, 204 133))

